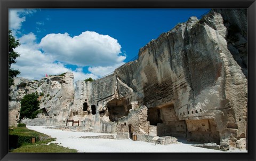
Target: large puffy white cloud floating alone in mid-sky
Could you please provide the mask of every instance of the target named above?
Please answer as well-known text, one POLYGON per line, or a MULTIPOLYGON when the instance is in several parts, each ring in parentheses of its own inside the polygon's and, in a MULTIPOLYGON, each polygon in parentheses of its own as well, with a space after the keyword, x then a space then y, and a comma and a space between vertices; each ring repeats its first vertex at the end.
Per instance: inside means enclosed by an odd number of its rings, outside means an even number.
POLYGON ((65 34, 49 34, 39 43, 46 55, 53 55, 59 61, 78 66, 108 67, 121 63, 121 45, 108 35, 85 31, 70 37, 65 34))

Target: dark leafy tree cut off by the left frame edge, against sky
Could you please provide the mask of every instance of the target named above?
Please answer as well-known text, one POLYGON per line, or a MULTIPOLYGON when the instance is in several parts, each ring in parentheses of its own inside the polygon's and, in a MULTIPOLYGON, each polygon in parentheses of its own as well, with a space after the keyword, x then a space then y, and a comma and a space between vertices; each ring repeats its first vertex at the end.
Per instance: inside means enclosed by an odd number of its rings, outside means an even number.
POLYGON ((18 54, 17 52, 14 51, 14 49, 16 47, 18 47, 20 45, 19 43, 19 40, 15 40, 15 37, 12 36, 12 31, 9 30, 8 32, 9 34, 9 51, 8 51, 8 58, 9 58, 9 61, 8 61, 8 69, 9 69, 9 75, 8 75, 8 87, 9 87, 9 93, 10 93, 10 87, 11 85, 14 85, 14 80, 13 80, 13 77, 16 77, 17 75, 20 74, 20 71, 19 70, 14 70, 11 68, 11 65, 13 63, 16 63, 15 59, 18 58, 20 56, 20 54, 18 54))

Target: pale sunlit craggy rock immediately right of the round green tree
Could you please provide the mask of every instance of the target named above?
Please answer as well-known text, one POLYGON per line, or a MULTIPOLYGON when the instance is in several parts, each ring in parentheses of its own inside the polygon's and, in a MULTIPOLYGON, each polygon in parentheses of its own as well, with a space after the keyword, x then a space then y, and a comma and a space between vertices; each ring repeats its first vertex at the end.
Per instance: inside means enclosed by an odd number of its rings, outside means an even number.
MULTIPOLYGON (((71 103, 74 101, 74 75, 66 73, 63 76, 50 76, 41 79, 38 87, 44 94, 40 101, 40 109, 44 109, 44 116, 63 122, 68 118, 71 103)), ((43 117, 43 116, 42 116, 43 117)))

